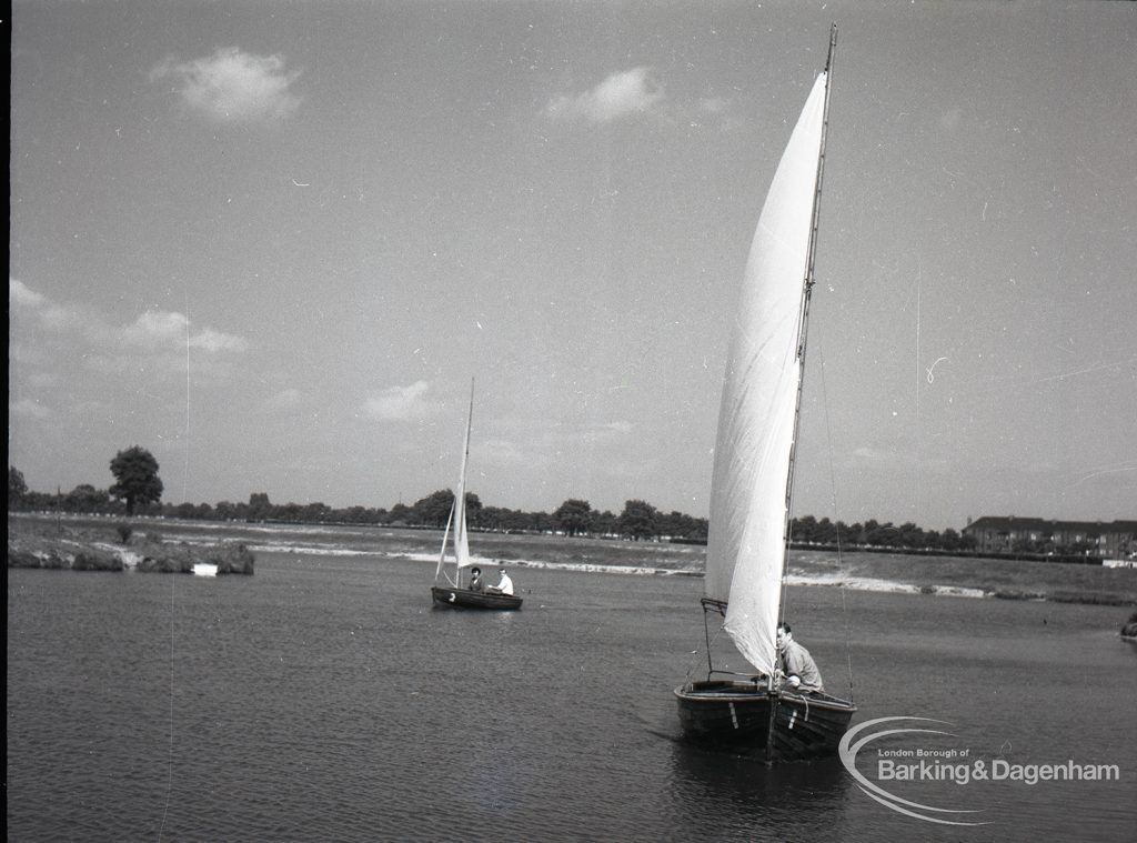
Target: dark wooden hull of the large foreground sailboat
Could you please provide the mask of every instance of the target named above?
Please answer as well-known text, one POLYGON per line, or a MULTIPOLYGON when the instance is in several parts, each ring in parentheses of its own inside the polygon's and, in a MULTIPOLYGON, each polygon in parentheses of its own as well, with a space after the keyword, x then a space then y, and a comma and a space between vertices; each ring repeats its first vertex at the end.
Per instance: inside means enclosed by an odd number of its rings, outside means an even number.
POLYGON ((774 705, 774 761, 837 754, 856 705, 828 694, 770 694, 754 683, 696 681, 675 688, 679 720, 695 742, 738 754, 766 754, 770 708, 774 705))

